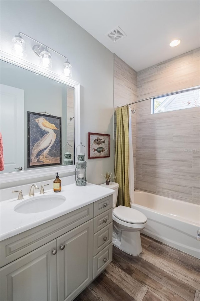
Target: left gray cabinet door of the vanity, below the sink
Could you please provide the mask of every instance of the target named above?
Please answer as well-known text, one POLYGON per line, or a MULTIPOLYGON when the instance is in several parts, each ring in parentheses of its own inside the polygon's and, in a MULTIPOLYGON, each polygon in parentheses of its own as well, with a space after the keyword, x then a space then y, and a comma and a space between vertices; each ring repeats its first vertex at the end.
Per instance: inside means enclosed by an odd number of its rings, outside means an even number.
POLYGON ((57 300, 56 239, 0 269, 2 301, 57 300))

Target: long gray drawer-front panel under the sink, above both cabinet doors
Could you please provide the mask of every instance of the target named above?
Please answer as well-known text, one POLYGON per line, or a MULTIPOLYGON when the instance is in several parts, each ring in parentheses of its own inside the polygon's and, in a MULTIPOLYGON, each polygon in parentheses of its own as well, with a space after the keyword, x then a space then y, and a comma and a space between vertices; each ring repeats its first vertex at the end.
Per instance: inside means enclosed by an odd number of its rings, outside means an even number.
POLYGON ((93 218, 93 204, 1 241, 1 266, 22 257, 45 243, 93 218))

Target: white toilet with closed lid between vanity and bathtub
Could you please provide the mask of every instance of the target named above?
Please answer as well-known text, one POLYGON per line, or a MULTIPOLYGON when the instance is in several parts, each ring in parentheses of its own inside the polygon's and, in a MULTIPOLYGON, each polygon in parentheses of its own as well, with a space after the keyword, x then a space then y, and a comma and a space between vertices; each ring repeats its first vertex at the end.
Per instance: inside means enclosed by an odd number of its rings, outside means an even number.
POLYGON ((113 245, 130 255, 139 255, 142 252, 140 231, 147 225, 147 217, 133 208, 118 206, 119 184, 110 182, 100 186, 113 189, 113 245))

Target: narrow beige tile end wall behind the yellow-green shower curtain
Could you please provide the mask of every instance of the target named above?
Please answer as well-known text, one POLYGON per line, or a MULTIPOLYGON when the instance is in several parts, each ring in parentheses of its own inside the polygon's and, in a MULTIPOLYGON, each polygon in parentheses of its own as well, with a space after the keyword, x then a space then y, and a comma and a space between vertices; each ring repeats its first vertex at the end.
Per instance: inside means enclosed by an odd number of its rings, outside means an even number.
MULTIPOLYGON (((137 100, 137 77, 136 71, 114 55, 114 112, 118 106, 137 100)), ((136 105, 131 106, 136 109, 136 105)), ((116 113, 115 113, 116 114, 116 113)), ((134 158, 134 178, 136 183, 136 113, 132 116, 132 140, 134 158)), ((114 137, 116 137, 116 116, 114 118, 114 137)), ((115 141, 114 141, 115 152, 115 141)))

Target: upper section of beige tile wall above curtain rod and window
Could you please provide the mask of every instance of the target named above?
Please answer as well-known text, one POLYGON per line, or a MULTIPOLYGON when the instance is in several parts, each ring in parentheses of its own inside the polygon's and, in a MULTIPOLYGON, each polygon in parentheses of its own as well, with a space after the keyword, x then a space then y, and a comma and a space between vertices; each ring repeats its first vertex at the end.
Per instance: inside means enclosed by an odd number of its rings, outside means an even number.
POLYGON ((137 98, 159 96, 200 84, 200 49, 137 72, 137 98))

